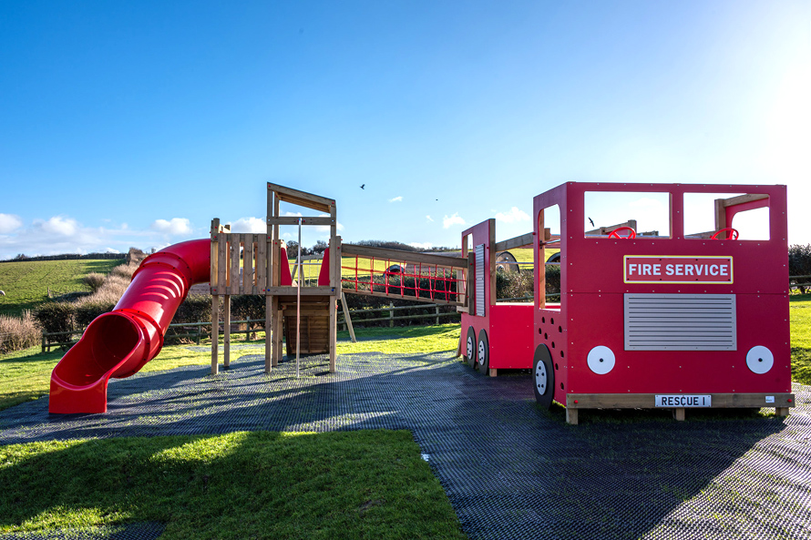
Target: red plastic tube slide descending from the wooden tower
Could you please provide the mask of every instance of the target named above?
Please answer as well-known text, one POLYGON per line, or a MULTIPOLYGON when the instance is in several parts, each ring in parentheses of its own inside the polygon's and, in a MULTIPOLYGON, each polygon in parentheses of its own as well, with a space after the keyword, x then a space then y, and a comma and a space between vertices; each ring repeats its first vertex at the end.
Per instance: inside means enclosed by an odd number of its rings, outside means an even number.
POLYGON ((110 377, 123 379, 158 356, 191 285, 209 280, 209 239, 160 250, 141 262, 113 311, 98 316, 51 373, 50 413, 105 413, 110 377))

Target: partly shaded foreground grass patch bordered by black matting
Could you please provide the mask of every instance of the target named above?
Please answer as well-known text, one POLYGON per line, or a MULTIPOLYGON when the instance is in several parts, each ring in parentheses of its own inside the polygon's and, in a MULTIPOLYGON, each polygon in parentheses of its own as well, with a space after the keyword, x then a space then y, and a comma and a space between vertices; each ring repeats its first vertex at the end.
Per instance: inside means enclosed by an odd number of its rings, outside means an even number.
POLYGON ((405 431, 0 446, 0 533, 167 525, 161 538, 465 538, 405 431))

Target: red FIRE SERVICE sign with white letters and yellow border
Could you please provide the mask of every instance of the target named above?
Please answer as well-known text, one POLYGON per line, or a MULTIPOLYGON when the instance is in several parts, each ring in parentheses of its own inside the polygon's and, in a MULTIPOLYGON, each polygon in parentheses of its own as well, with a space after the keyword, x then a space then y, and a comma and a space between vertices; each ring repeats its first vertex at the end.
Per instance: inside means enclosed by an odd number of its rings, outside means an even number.
POLYGON ((624 258, 626 283, 732 283, 732 257, 684 255, 624 258))

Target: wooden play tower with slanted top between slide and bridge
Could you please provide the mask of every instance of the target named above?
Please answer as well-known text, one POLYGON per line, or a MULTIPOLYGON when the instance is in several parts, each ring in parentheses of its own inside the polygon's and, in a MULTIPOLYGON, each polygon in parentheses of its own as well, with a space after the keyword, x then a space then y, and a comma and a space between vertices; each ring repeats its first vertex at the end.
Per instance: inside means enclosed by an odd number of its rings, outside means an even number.
MULTIPOLYGON (((336 233, 334 199, 327 199, 298 189, 268 183, 267 232, 232 233, 221 226, 219 219, 211 222, 211 320, 222 319, 225 331, 223 365, 229 366, 231 356, 231 295, 259 294, 265 296, 265 372, 282 359, 282 329, 286 327, 288 354, 329 353, 330 372, 335 371, 336 301, 340 288, 340 238, 336 233), (307 210, 313 216, 282 216, 280 204, 289 203, 307 210), (287 259, 287 249, 280 236, 281 226, 329 227, 328 252, 324 255, 317 280, 293 281, 287 259), (330 257, 336 253, 336 257, 330 257), (310 282, 313 281, 313 282, 310 282), (286 322, 286 324, 284 324, 286 322)), ((301 245, 301 240, 299 241, 301 245)), ((219 328, 212 325, 211 372, 218 371, 219 328)))

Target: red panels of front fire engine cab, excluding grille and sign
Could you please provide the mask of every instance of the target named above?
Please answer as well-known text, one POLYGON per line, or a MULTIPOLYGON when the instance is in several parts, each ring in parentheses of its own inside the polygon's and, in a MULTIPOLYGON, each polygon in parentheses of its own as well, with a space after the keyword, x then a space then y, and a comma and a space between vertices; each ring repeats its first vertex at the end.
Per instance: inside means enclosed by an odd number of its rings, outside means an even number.
MULTIPOLYGON (((534 199, 536 233, 540 210, 555 204, 561 216, 561 303, 556 309, 535 310, 532 335, 533 351, 545 344, 556 362, 556 402, 565 404, 568 393, 791 392, 785 186, 568 183, 534 199), (583 201, 587 191, 670 193, 671 237, 585 237, 583 201), (770 239, 685 238, 684 193, 767 195, 768 199, 727 209, 726 216, 732 219, 741 209, 768 206, 770 239), (626 256, 731 258, 734 279, 714 283, 626 282, 626 256), (735 350, 626 351, 625 293, 734 295, 735 350), (591 371, 587 364, 589 352, 599 345, 611 349, 616 359, 613 369, 605 374, 591 371), (758 374, 747 367, 746 354, 755 346, 773 353, 774 366, 768 372, 758 374)), ((541 246, 536 242, 536 268, 543 268, 542 261, 541 246)), ((536 306, 540 306, 538 279, 536 272, 536 306)))

